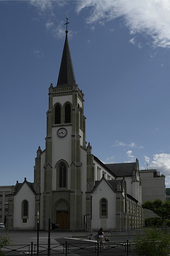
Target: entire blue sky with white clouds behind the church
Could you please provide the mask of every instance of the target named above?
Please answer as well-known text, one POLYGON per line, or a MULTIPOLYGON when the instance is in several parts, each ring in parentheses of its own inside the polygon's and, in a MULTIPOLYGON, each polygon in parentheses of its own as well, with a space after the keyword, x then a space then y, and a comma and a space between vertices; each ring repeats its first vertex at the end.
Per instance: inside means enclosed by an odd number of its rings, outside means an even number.
POLYGON ((157 169, 170 187, 170 1, 0 1, 0 185, 33 182, 48 88, 65 40, 104 163, 157 169))

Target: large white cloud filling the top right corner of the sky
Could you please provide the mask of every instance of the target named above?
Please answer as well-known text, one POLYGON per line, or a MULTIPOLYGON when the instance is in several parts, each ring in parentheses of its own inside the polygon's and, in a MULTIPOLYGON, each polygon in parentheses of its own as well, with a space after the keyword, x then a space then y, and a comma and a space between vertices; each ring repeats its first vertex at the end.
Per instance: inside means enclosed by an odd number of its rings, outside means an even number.
POLYGON ((123 17, 130 34, 141 33, 152 39, 154 47, 170 47, 170 1, 77 1, 76 11, 91 8, 87 24, 123 17))

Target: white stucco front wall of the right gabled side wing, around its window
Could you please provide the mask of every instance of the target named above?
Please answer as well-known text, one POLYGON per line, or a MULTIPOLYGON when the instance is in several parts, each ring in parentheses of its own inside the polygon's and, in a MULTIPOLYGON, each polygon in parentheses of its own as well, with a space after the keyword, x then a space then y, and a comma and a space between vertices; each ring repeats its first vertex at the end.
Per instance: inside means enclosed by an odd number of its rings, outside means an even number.
POLYGON ((93 192, 92 197, 92 229, 100 227, 116 228, 116 193, 103 180, 93 192), (100 199, 106 198, 108 201, 108 218, 100 218, 100 199))

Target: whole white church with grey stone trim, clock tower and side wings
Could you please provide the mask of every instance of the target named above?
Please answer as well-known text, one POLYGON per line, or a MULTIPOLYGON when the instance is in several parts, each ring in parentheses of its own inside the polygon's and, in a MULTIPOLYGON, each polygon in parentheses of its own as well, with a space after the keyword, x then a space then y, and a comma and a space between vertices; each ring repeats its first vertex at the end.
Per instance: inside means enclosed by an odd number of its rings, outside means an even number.
POLYGON ((76 84, 68 30, 57 85, 49 86, 45 149, 38 147, 34 183, 12 186, 6 228, 125 229, 144 225, 139 162, 104 164, 86 142, 84 95, 76 84))

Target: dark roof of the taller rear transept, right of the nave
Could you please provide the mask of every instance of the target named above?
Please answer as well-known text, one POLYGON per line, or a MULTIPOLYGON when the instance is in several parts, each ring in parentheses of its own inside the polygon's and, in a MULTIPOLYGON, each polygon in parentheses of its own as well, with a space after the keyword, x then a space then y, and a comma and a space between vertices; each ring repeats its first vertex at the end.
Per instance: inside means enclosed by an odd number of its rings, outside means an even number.
POLYGON ((108 163, 105 164, 116 176, 131 176, 136 163, 108 163))

